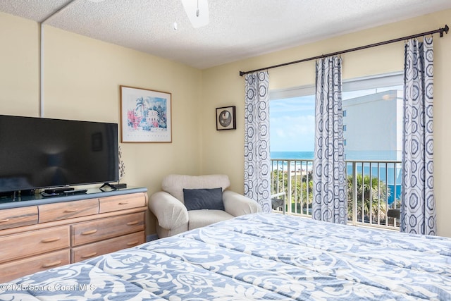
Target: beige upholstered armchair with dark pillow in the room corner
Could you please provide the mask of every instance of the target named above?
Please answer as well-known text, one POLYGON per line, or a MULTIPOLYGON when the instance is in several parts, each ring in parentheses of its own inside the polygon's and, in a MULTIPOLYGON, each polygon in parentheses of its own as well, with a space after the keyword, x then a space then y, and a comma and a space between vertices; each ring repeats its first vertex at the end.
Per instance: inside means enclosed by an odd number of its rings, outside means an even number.
POLYGON ((226 175, 169 175, 163 178, 162 191, 149 197, 149 209, 156 216, 159 238, 235 216, 261 212, 260 204, 227 190, 229 186, 230 180, 226 175))

